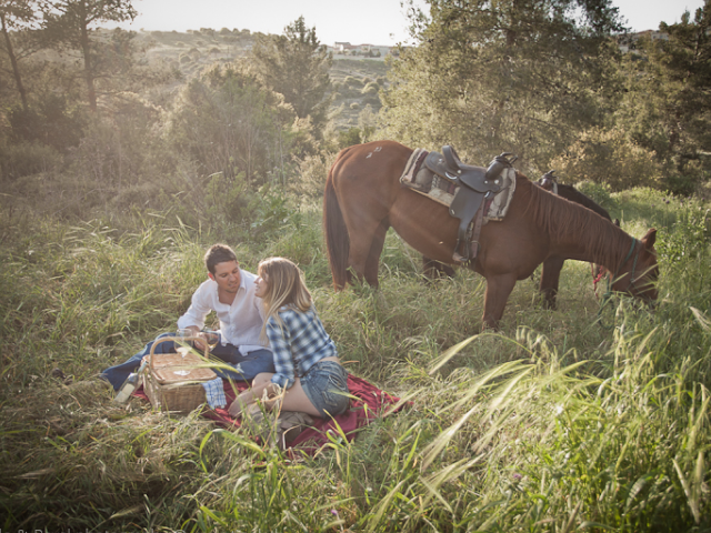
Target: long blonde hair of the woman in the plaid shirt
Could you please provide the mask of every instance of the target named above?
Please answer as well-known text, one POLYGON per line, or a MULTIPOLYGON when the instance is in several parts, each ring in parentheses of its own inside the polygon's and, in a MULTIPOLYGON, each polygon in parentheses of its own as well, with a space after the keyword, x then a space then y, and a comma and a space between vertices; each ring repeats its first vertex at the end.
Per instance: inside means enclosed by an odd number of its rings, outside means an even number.
POLYGON ((267 292, 262 298, 264 305, 264 325, 261 336, 267 336, 267 321, 271 316, 280 325, 279 309, 284 305, 301 311, 311 309, 311 293, 303 281, 303 272, 293 262, 284 258, 268 258, 259 263, 257 274, 267 282, 267 292))

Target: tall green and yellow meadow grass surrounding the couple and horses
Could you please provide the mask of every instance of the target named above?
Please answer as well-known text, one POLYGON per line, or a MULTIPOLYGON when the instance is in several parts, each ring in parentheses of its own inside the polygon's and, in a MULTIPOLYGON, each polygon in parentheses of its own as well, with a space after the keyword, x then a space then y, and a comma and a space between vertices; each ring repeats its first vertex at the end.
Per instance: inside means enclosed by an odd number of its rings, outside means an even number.
POLYGON ((704 205, 613 197, 627 231, 687 248, 661 264, 655 312, 617 301, 611 329, 589 266, 568 262, 558 310, 523 280, 481 334, 482 280, 427 283, 393 233, 380 289, 334 293, 318 207, 258 240, 170 213, 3 228, 0 530, 711 530, 708 222, 677 223, 704 205), (297 260, 349 370, 411 406, 290 459, 197 413, 114 405, 98 373, 173 328, 230 234, 252 271, 297 260))

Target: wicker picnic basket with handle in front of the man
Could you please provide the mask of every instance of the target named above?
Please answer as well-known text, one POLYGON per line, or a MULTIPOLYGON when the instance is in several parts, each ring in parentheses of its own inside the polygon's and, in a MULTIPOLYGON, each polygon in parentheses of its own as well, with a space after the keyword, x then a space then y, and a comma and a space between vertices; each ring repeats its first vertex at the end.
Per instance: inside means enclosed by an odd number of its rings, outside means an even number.
MULTIPOLYGON (((194 336, 181 340, 197 339, 194 336)), ((176 340, 172 336, 166 336, 151 346, 151 352, 146 355, 148 368, 142 374, 143 390, 154 409, 187 414, 206 402, 202 383, 214 380, 217 374, 207 368, 196 368, 204 363, 204 360, 192 351, 187 353, 184 359, 180 353, 154 353, 156 346, 161 342, 176 340), (187 370, 190 373, 176 374, 179 370, 187 370)))

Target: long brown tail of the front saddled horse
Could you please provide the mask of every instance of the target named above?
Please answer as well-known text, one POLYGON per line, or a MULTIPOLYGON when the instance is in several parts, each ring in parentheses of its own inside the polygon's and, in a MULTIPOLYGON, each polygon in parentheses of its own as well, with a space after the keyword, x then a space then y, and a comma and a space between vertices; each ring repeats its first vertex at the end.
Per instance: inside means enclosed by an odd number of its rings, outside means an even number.
MULTIPOLYGON (((339 158, 340 159, 340 158, 339 158)), ((348 275, 348 254, 351 241, 348 237, 348 227, 343 220, 341 205, 336 197, 333 187, 333 169, 338 164, 338 159, 329 171, 323 191, 323 229, 326 231, 326 248, 329 254, 329 265, 333 276, 333 288, 340 291, 346 286, 348 275)))

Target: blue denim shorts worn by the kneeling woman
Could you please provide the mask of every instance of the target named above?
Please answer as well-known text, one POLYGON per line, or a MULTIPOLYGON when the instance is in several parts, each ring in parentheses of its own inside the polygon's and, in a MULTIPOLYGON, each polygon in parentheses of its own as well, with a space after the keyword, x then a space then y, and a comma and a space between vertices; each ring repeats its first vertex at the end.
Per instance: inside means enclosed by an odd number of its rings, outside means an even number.
POLYGON ((350 405, 348 372, 336 361, 319 361, 301 378, 301 386, 322 419, 338 416, 350 405))

